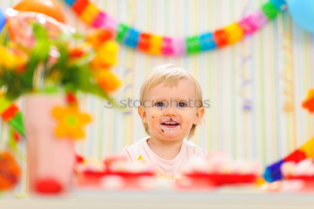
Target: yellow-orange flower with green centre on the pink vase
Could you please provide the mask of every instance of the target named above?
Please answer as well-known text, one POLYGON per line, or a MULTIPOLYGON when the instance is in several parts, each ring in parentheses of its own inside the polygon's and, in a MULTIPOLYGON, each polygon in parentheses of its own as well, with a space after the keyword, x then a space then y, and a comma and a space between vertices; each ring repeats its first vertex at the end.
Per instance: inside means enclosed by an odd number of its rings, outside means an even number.
POLYGON ((85 136, 83 128, 86 123, 91 121, 88 114, 78 112, 77 106, 56 106, 52 109, 52 115, 57 119, 58 124, 55 128, 55 134, 60 138, 83 138, 85 136))

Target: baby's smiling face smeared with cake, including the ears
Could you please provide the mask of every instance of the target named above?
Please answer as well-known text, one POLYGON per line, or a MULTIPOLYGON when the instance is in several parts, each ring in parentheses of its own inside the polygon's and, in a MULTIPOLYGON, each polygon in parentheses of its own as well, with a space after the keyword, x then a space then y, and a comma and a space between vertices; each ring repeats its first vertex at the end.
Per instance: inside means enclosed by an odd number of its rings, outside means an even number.
POLYGON ((182 140, 203 116, 204 108, 197 107, 192 83, 180 80, 177 86, 160 83, 148 93, 139 108, 142 121, 149 126, 152 137, 163 141, 182 140))

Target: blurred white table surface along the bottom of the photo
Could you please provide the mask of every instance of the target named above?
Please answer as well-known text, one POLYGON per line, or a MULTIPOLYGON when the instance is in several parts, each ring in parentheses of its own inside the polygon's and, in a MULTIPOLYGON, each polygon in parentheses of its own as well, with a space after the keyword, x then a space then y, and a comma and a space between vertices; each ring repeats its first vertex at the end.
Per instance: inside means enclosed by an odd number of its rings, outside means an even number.
POLYGON ((312 208, 314 193, 266 192, 254 188, 223 187, 212 191, 108 191, 76 189, 60 197, 29 196, 14 198, 5 195, 0 209, 43 208, 312 208))

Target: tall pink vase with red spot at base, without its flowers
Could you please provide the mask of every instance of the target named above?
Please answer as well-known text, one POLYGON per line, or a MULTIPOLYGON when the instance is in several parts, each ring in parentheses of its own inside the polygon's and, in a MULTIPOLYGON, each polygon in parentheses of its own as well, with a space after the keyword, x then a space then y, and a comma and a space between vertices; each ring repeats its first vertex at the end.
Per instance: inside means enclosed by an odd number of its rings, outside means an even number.
POLYGON ((54 106, 65 106, 62 95, 30 94, 25 97, 25 128, 30 191, 59 193, 71 186, 75 162, 74 141, 57 138, 54 106))

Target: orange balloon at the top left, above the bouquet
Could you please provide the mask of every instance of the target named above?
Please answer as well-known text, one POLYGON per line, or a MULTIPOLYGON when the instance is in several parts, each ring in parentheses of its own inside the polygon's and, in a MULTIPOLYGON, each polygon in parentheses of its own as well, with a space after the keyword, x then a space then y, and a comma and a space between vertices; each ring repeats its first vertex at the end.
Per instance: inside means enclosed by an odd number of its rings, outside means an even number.
POLYGON ((59 22, 65 23, 65 12, 55 0, 22 0, 13 8, 19 11, 44 13, 59 22))

